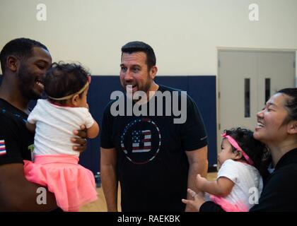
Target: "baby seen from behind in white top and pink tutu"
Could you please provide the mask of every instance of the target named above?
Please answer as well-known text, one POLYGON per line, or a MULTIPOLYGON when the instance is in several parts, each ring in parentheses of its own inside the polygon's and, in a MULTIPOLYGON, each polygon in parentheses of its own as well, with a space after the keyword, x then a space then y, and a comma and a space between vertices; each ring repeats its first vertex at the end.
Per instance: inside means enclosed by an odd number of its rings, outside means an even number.
POLYGON ((91 77, 77 64, 57 64, 47 72, 47 100, 38 100, 27 128, 35 131, 34 160, 25 160, 25 178, 47 186, 57 206, 78 211, 97 199, 93 173, 78 165, 79 153, 72 149, 73 131, 86 125, 88 138, 99 133, 98 123, 88 111, 87 93, 91 77))

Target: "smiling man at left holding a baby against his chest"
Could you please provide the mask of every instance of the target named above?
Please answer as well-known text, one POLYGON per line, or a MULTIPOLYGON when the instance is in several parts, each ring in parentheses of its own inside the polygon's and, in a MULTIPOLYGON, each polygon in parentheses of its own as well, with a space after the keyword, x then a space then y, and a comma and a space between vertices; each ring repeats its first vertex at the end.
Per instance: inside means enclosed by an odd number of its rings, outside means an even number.
MULTIPOLYGON (((31 160, 34 134, 25 127, 28 102, 43 92, 45 72, 52 57, 45 45, 19 38, 8 42, 0 53, 3 73, 0 86, 0 211, 49 211, 57 209, 54 195, 47 191, 46 204, 37 203, 41 187, 25 179, 23 160, 31 160)), ((86 132, 75 131, 81 138, 74 149, 86 149, 86 132)), ((43 200, 45 201, 45 200, 43 200)))

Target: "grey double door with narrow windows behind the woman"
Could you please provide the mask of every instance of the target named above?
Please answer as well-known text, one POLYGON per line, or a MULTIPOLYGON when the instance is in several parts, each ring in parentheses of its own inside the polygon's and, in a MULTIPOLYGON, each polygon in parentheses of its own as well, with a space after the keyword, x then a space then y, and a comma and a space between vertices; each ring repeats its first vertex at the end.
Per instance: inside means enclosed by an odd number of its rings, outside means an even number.
POLYGON ((255 129, 270 95, 294 87, 295 52, 219 50, 218 150, 224 129, 255 129))

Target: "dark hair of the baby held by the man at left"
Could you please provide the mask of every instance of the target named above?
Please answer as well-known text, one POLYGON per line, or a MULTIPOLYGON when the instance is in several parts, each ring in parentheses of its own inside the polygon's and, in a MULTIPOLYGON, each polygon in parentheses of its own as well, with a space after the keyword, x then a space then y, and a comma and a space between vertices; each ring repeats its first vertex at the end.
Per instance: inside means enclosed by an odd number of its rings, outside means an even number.
MULTIPOLYGON (((80 64, 53 63, 45 75, 45 93, 54 98, 77 93, 86 85, 89 74, 80 64)), ((52 101, 62 105, 66 103, 66 100, 52 101)))

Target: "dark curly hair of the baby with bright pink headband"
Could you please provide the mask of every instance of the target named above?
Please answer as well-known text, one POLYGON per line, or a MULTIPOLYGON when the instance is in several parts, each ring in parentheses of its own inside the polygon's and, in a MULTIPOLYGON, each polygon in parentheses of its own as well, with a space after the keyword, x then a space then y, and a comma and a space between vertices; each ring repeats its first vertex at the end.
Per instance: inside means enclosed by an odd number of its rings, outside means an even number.
MULTIPOLYGON (((267 173, 267 160, 269 159, 269 151, 264 143, 257 141, 253 132, 249 129, 243 128, 233 128, 224 131, 226 135, 231 136, 240 146, 241 149, 250 157, 252 162, 254 162, 254 167, 260 171, 260 174, 266 175, 267 173)), ((235 152, 236 149, 231 145, 232 151, 235 152)), ((242 160, 245 160, 242 157, 242 160)))

